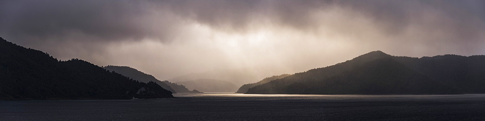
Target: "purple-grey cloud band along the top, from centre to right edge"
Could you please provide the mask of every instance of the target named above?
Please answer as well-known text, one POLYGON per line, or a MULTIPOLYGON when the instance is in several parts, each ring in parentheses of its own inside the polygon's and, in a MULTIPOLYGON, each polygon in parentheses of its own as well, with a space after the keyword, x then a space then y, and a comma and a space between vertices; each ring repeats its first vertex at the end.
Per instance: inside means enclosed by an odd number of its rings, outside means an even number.
MULTIPOLYGON (((483 29, 485 20, 483 0, 179 0, 165 3, 178 15, 227 30, 247 29, 251 22, 260 19, 301 30, 312 29, 319 26, 319 20, 314 20, 310 13, 331 7, 364 14, 377 26, 385 27, 383 32, 389 34, 399 34, 406 26, 419 24, 411 23, 412 19, 425 17, 423 12, 428 11, 440 13, 441 19, 450 19, 436 21, 436 25, 452 27, 447 29, 454 29, 459 35, 475 34, 473 31, 483 29)), ((339 24, 347 22, 351 21, 339 24)))

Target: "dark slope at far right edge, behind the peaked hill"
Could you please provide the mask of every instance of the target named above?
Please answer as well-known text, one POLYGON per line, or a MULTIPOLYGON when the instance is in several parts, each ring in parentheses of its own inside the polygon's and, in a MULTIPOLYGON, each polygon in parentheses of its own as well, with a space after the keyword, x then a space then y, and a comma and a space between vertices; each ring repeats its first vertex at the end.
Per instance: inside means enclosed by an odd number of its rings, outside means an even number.
POLYGON ((485 55, 438 55, 433 57, 394 57, 407 67, 450 85, 462 93, 485 93, 485 55))

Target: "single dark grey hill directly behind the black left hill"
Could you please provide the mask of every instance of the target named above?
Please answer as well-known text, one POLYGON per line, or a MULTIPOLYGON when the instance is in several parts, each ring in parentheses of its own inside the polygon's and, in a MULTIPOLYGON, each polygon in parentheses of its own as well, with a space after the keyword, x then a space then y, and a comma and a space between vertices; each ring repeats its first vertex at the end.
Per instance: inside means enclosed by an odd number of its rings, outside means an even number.
POLYGON ((155 77, 152 75, 146 74, 144 72, 141 72, 135 68, 131 67, 122 67, 122 66, 106 66, 103 67, 104 69, 108 69, 111 71, 114 71, 116 73, 122 74, 124 76, 127 76, 133 80, 141 81, 141 82, 150 82, 153 81, 157 83, 158 85, 162 86, 163 89, 166 89, 172 93, 177 93, 172 87, 167 85, 166 83, 163 83, 160 80, 157 80, 155 77))

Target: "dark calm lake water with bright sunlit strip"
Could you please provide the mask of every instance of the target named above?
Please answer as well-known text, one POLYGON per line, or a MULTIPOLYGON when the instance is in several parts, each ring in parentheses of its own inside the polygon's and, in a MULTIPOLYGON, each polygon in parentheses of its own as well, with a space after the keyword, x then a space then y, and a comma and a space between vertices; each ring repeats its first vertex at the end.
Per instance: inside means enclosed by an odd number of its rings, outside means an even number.
POLYGON ((485 94, 174 94, 174 99, 0 101, 0 120, 485 120, 485 94))

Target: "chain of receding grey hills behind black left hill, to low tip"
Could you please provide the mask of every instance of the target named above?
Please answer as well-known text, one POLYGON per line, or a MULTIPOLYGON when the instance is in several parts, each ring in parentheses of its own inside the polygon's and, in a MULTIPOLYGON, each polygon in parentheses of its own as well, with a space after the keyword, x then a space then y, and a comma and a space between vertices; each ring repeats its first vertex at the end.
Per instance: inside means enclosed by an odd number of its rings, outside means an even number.
POLYGON ((181 84, 176 84, 169 81, 160 81, 155 77, 153 77, 152 75, 141 72, 135 68, 123 67, 123 66, 111 66, 111 65, 103 68, 122 74, 124 76, 127 76, 137 81, 141 81, 141 82, 153 81, 158 85, 162 86, 162 88, 167 89, 168 91, 174 94, 175 93, 201 93, 197 90, 189 91, 184 85, 181 85, 181 84))

